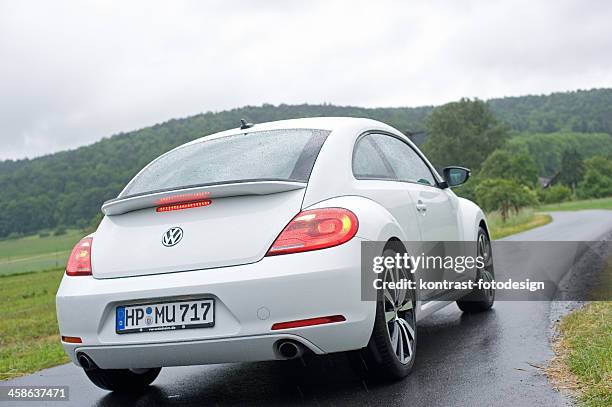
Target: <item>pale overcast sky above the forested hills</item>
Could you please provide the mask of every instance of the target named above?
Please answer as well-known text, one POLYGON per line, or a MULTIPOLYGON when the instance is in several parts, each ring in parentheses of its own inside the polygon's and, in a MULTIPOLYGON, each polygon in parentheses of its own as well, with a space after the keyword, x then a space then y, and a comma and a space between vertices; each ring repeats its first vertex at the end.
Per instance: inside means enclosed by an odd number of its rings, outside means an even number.
POLYGON ((610 87, 611 22, 609 1, 0 0, 0 159, 247 104, 610 87))

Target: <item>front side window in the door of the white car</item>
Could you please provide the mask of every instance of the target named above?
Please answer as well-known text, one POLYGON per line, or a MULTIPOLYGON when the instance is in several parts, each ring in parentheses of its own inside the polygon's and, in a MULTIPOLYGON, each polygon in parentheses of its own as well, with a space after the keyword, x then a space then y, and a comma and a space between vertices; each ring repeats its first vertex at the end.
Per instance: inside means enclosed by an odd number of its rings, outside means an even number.
POLYGON ((436 185, 431 170, 419 155, 403 141, 384 134, 372 134, 399 181, 436 185))

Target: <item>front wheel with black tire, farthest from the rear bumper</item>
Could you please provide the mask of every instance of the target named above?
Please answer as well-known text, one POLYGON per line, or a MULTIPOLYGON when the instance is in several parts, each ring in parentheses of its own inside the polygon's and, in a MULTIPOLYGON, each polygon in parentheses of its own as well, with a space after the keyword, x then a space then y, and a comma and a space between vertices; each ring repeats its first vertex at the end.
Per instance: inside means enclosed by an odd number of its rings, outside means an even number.
MULTIPOLYGON (((495 270, 493 268, 493 251, 491 250, 491 240, 487 231, 482 227, 478 228, 476 240, 477 256, 484 258, 484 267, 478 269, 476 280, 493 281, 495 270)), ((474 290, 462 299, 457 301, 459 309, 466 313, 483 312, 491 309, 495 302, 495 289, 474 290)))

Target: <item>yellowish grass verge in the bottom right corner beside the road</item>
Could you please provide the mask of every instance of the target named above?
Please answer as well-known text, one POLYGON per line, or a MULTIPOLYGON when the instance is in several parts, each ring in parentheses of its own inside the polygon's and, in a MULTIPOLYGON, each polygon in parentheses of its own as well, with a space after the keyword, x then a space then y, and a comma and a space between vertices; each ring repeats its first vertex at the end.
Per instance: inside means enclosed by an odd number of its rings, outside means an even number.
POLYGON ((612 406, 612 302, 592 302, 559 326, 558 349, 577 383, 584 406, 612 406))

